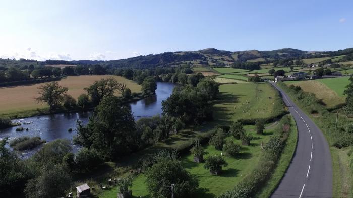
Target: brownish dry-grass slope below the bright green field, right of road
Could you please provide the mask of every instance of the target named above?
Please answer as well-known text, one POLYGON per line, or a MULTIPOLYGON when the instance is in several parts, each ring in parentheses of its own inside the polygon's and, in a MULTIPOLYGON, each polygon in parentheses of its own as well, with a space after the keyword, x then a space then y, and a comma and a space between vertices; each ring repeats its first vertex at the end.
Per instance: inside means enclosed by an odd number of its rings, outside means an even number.
MULTIPOLYGON (((332 79, 335 79, 335 78, 332 78, 332 79)), ((320 79, 320 80, 327 80, 327 79, 320 79)), ((319 80, 286 81, 284 83, 288 85, 290 84, 297 85, 297 86, 300 86, 306 92, 314 93, 318 99, 321 99, 326 104, 327 107, 333 107, 335 105, 344 103, 345 101, 345 98, 342 95, 338 95, 338 93, 335 92, 335 90, 328 87, 325 83, 319 80)), ((335 86, 335 88, 337 89, 335 84, 333 84, 332 86, 335 86)))

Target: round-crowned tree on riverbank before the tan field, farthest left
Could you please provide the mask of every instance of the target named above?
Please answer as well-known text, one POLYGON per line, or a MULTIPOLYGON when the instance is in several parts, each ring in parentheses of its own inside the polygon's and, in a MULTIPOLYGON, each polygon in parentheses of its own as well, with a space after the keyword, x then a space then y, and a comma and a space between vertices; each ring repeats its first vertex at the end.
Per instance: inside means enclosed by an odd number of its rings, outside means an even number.
POLYGON ((37 103, 46 102, 50 110, 54 110, 64 99, 67 87, 60 86, 57 82, 46 83, 38 87, 39 96, 36 98, 37 103))

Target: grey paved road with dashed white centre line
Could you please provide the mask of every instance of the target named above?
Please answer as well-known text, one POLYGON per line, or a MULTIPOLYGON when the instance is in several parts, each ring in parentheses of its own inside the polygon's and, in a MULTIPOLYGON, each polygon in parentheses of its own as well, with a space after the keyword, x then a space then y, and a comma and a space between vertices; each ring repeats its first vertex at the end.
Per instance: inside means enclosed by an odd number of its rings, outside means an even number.
POLYGON ((271 197, 332 197, 329 145, 321 130, 275 84, 297 122, 298 144, 293 159, 271 197))

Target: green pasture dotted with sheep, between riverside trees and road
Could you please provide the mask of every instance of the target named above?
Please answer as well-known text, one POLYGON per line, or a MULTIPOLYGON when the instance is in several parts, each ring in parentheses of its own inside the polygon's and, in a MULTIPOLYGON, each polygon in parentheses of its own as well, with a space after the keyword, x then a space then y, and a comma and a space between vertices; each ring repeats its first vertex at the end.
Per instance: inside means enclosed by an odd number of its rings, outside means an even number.
POLYGON ((276 91, 267 83, 224 84, 219 92, 221 100, 214 105, 219 120, 264 118, 273 112, 276 91))

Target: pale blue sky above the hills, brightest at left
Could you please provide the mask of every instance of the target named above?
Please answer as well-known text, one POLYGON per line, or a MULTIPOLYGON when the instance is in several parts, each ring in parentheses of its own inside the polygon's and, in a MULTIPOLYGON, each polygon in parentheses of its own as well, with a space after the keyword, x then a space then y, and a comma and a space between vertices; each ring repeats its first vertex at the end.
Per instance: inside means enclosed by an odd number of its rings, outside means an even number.
POLYGON ((353 47, 353 1, 4 1, 0 58, 353 47))

